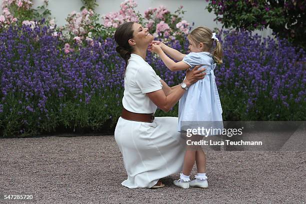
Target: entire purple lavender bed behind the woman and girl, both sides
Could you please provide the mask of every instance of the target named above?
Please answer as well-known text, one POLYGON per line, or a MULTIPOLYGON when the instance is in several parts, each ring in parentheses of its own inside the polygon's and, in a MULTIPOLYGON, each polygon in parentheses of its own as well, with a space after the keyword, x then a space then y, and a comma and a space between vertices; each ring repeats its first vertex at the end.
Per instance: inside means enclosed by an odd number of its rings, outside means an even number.
MULTIPOLYGON (((114 40, 75 43, 67 52, 52 33, 45 26, 26 25, 0 32, 0 135, 101 131, 119 117, 124 61, 114 40)), ((304 120, 305 52, 294 52, 284 40, 261 43, 249 32, 220 34, 225 57, 215 75, 223 119, 304 120)), ((187 43, 168 43, 187 50, 187 43)), ((170 86, 184 77, 150 52, 147 62, 170 86)), ((177 116, 177 106, 156 115, 177 116)))

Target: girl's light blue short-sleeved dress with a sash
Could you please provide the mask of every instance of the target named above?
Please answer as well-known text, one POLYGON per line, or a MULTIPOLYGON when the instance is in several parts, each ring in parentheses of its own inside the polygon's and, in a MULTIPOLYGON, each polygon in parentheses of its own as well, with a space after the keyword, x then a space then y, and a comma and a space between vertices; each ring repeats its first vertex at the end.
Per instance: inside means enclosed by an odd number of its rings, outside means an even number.
POLYGON ((190 85, 180 98, 177 130, 186 131, 187 128, 197 128, 197 126, 222 129, 222 122, 214 122, 222 121, 222 107, 213 73, 216 63, 213 63, 212 54, 190 52, 183 58, 183 61, 190 65, 190 68, 202 64, 200 68, 206 68, 206 75, 203 79, 190 85))

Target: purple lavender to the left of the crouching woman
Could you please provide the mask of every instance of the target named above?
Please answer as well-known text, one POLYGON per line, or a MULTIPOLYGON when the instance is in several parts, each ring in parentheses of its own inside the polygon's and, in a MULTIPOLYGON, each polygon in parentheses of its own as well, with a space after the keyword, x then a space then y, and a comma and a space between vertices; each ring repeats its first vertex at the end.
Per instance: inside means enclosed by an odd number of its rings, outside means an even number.
POLYGON ((52 30, 23 25, 0 41, 0 135, 98 131, 118 117, 124 63, 112 39, 66 54, 52 30))

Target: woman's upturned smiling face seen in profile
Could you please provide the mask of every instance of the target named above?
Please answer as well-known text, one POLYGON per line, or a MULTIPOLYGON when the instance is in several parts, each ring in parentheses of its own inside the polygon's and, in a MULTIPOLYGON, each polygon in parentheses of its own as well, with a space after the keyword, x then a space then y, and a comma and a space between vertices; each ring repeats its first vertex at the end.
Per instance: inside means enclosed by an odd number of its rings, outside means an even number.
POLYGON ((142 27, 139 23, 133 24, 133 38, 135 45, 138 47, 147 46, 153 39, 153 35, 148 32, 148 28, 142 27))

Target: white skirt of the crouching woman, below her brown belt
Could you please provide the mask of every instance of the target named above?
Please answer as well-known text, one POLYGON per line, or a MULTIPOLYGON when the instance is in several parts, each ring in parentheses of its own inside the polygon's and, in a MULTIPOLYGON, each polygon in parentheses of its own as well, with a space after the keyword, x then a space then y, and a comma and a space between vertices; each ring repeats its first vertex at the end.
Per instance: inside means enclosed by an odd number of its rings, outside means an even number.
POLYGON ((122 185, 149 188, 159 178, 182 170, 185 140, 176 126, 177 117, 155 117, 152 123, 119 117, 114 137, 127 172, 122 185))

